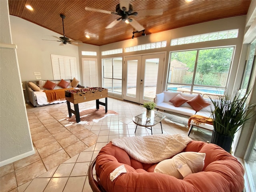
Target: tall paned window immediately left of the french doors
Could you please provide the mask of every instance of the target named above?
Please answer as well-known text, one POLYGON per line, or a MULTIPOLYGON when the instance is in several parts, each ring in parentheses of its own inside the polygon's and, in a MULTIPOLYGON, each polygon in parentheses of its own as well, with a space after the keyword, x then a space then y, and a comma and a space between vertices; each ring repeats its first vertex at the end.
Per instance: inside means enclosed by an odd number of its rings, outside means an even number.
POLYGON ((108 92, 122 94, 122 58, 103 59, 103 86, 108 92))

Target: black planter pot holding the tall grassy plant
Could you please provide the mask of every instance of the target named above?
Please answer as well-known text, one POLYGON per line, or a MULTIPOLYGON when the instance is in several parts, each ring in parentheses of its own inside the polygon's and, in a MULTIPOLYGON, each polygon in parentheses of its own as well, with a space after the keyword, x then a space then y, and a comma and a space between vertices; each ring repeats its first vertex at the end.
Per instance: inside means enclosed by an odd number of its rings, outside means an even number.
POLYGON ((233 139, 234 139, 234 136, 230 137, 230 136, 217 133, 214 130, 212 131, 211 143, 214 143, 220 146, 221 148, 223 148, 225 151, 229 153, 231 151, 231 145, 232 145, 233 139))

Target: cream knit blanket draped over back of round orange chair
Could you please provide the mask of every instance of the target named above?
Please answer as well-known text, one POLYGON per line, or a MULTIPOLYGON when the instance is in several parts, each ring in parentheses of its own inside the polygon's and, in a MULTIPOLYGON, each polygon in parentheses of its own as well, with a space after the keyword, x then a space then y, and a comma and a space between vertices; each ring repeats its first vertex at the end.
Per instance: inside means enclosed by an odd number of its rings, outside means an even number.
POLYGON ((192 141, 183 134, 122 137, 112 144, 142 163, 158 163, 180 152, 192 141))

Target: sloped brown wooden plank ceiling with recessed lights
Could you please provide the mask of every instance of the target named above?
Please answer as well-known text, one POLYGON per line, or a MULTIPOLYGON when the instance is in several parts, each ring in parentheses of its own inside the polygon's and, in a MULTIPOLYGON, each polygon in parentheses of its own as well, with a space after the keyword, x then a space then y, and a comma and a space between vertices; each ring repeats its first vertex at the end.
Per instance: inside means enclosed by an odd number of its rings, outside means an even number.
MULTIPOLYGON (((250 0, 130 0, 135 18, 152 34, 201 22, 245 15, 250 0), (143 16, 146 10, 162 9, 160 16, 143 16), (144 12, 143 12, 144 10, 144 12)), ((73 40, 93 45, 105 45, 132 38, 134 28, 123 21, 113 28, 106 26, 120 16, 85 10, 85 7, 115 12, 119 0, 8 0, 10 15, 18 16, 63 36, 62 18, 64 14, 65 36, 73 40), (34 8, 28 10, 25 5, 34 8), (90 38, 86 38, 89 35, 90 38)), ((150 12, 150 11, 149 11, 150 12)), ((140 34, 134 34, 135 38, 140 34)))

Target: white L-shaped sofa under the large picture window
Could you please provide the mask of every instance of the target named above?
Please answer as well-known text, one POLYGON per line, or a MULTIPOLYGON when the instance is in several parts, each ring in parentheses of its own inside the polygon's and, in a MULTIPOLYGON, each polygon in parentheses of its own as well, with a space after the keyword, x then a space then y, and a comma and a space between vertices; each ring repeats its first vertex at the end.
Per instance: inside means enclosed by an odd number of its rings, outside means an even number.
MULTIPOLYGON (((201 116, 206 116, 206 117, 211 117, 211 108, 214 109, 214 106, 209 98, 211 96, 210 94, 204 94, 202 97, 204 98, 205 101, 209 102, 210 105, 202 108, 201 110, 197 111, 194 110, 187 102, 182 104, 179 107, 175 107, 174 104, 169 102, 172 98, 174 98, 176 95, 180 94, 182 97, 184 97, 187 100, 191 100, 195 96, 197 96, 199 93, 195 92, 186 92, 186 91, 176 91, 176 90, 171 90, 171 91, 163 91, 160 94, 156 94, 156 108, 161 109, 161 110, 166 110, 170 111, 173 113, 177 114, 182 114, 185 116, 192 116, 192 115, 201 115, 201 116)), ((206 130, 213 130, 213 126, 210 124, 202 124, 202 123, 196 123, 193 120, 190 122, 190 127, 188 130, 188 136, 193 128, 193 126, 197 126, 200 128, 204 128, 206 130)))

